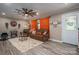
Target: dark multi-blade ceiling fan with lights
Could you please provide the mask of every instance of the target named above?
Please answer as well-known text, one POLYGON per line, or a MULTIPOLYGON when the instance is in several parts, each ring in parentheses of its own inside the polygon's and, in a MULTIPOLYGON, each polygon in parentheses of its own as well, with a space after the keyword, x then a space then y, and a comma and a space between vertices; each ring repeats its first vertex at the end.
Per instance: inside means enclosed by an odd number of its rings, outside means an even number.
POLYGON ((16 9, 18 14, 21 14, 23 16, 36 16, 38 15, 38 12, 32 9, 22 8, 22 9, 16 9))

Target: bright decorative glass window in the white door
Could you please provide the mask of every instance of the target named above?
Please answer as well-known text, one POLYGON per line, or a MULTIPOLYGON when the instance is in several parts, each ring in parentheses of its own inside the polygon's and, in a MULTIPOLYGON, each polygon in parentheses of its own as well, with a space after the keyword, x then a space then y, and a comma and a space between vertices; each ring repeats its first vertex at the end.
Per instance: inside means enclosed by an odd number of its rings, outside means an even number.
POLYGON ((66 30, 76 30, 76 16, 68 16, 65 19, 66 30))

